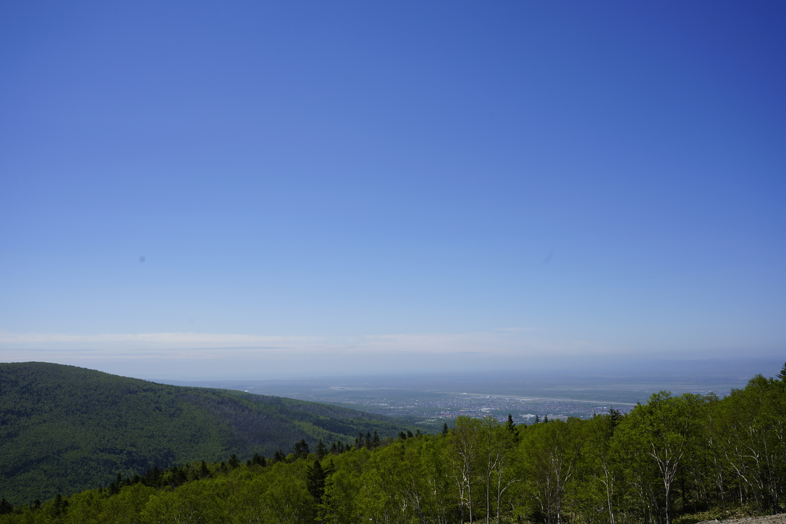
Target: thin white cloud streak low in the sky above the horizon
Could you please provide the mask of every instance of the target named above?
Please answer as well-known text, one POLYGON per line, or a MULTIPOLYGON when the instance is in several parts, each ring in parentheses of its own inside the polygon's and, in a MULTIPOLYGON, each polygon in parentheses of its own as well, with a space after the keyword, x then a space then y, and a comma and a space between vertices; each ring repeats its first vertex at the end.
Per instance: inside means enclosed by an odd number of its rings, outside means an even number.
POLYGON ((554 342, 503 333, 380 334, 358 337, 261 336, 211 333, 10 334, 0 333, 2 360, 69 358, 212 359, 263 356, 487 354, 608 352, 585 341, 554 342))

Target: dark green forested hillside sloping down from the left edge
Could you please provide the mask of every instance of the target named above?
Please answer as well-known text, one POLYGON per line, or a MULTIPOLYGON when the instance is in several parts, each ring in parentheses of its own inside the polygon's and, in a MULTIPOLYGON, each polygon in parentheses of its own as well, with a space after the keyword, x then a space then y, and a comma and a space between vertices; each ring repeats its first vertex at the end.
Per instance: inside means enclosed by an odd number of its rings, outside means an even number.
POLYGON ((21 504, 157 464, 354 441, 393 419, 281 397, 169 386, 53 363, 0 363, 0 495, 21 504))

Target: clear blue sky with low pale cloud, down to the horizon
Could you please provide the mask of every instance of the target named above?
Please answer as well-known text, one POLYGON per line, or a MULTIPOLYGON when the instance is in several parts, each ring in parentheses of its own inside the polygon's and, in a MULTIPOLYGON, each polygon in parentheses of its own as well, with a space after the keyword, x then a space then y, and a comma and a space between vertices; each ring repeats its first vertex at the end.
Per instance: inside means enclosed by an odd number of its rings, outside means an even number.
POLYGON ((783 355, 784 22, 782 2, 6 2, 0 360, 783 355))

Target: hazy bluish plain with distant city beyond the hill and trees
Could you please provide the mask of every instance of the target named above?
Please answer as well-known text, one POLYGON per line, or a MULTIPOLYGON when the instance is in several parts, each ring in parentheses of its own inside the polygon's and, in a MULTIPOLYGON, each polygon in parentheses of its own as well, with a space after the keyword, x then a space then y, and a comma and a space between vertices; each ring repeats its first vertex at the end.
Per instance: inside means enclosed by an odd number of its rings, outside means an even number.
POLYGON ((310 400, 378 415, 418 417, 432 426, 458 416, 485 417, 516 423, 538 420, 589 419, 614 408, 626 413, 656 391, 675 394, 716 393, 724 397, 744 387, 747 376, 707 377, 627 375, 575 377, 521 373, 399 375, 377 377, 302 378, 256 381, 168 381, 183 386, 239 389, 249 393, 310 400))

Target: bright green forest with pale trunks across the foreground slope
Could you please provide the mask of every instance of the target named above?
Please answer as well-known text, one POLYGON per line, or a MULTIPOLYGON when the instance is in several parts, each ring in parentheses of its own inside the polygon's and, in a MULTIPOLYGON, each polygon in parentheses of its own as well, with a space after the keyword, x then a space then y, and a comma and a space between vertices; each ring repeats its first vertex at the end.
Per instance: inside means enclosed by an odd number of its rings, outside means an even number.
POLYGON ((192 462, 45 504, 17 522, 689 524, 776 513, 786 489, 786 365, 744 389, 653 394, 626 415, 516 426, 459 418, 435 435, 358 434, 241 463, 192 462))

